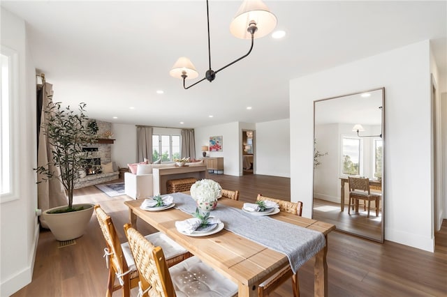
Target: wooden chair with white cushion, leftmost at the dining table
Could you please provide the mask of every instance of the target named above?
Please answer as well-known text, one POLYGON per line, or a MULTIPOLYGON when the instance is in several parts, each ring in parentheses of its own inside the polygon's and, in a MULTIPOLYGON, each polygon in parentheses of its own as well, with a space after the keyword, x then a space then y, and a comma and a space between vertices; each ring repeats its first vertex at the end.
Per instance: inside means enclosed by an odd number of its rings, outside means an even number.
MULTIPOLYGON (((96 205, 94 208, 99 226, 101 231, 103 231, 106 245, 104 256, 106 265, 109 268, 105 296, 111 297, 114 291, 122 289, 122 296, 129 297, 131 296, 131 289, 138 286, 139 280, 138 271, 135 268, 135 262, 129 249, 129 243, 120 243, 110 215, 105 213, 99 205, 96 205), (119 281, 117 285, 115 285, 115 276, 117 276, 119 281)), ((166 257, 168 257, 169 266, 191 257, 188 251, 161 232, 149 234, 147 238, 157 245, 163 246, 168 251, 166 257)))

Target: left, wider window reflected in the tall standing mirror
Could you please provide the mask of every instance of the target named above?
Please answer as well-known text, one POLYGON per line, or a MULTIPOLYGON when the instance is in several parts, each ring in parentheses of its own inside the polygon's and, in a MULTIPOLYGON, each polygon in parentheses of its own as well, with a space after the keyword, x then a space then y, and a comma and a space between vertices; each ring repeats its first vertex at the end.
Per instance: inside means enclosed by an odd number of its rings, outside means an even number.
POLYGON ((342 137, 342 174, 360 175, 361 142, 356 137, 342 137))

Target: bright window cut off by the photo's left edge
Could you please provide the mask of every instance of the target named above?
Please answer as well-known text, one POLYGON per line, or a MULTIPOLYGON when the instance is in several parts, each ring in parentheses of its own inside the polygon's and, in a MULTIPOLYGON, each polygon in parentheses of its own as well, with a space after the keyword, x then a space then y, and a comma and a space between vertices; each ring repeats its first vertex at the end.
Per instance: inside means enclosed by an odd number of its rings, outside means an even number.
POLYGON ((13 107, 17 105, 17 52, 1 46, 0 51, 0 201, 10 201, 17 197, 17 174, 13 174, 15 162, 13 107))

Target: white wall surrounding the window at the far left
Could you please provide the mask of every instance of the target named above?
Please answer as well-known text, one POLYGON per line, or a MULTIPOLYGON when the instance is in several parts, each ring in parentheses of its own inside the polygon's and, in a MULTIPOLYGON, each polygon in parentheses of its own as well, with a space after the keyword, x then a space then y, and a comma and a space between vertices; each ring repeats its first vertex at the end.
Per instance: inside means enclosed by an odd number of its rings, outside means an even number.
POLYGON ((36 72, 27 45, 25 23, 1 8, 1 45, 18 54, 18 96, 13 121, 13 174, 20 185, 12 201, 0 204, 0 296, 31 282, 38 242, 36 173, 36 72))

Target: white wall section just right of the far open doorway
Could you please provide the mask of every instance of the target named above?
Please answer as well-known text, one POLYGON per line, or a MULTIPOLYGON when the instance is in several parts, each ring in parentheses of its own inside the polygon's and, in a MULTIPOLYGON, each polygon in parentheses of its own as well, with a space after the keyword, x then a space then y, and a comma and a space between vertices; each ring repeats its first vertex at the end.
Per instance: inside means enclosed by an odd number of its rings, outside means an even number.
POLYGON ((256 123, 256 174, 291 176, 290 121, 256 123))

